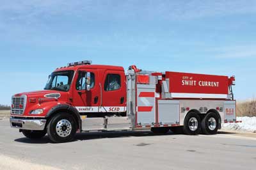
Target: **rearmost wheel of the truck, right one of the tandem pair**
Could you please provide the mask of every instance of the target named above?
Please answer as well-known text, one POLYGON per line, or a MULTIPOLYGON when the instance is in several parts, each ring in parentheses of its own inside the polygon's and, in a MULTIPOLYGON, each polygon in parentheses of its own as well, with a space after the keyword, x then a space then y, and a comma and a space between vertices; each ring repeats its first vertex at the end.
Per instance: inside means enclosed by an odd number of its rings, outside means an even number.
POLYGON ((201 122, 202 134, 214 135, 217 134, 219 127, 218 116, 214 112, 209 112, 206 114, 201 122))

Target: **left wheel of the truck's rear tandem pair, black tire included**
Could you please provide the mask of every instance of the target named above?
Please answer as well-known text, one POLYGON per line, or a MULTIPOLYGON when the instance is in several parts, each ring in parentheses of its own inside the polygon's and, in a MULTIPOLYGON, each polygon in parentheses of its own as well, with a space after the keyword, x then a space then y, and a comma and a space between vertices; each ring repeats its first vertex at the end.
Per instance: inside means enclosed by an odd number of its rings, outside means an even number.
POLYGON ((184 120, 183 131, 187 135, 200 133, 200 116, 196 112, 189 112, 184 120))

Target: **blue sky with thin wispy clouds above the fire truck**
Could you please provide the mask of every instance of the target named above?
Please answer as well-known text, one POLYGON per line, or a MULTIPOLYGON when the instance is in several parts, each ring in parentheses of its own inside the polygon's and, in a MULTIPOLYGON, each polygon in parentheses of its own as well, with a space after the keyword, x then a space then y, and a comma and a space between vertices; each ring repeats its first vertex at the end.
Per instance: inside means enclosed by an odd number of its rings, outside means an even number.
POLYGON ((6 1, 0 6, 0 104, 43 89, 68 62, 236 75, 256 95, 256 1, 6 1))

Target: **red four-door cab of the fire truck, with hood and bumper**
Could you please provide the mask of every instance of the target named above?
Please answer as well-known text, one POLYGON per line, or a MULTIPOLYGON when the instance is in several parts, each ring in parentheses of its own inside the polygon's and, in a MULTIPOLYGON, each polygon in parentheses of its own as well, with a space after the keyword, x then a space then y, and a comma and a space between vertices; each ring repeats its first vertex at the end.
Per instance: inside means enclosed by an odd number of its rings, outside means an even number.
MULTIPOLYGON (((12 127, 19 128, 27 137, 37 138, 47 133, 47 126, 51 125, 50 121, 54 120, 54 116, 65 112, 65 116, 55 122, 62 127, 62 134, 59 135, 65 138, 65 135, 81 130, 81 115, 124 115, 125 106, 124 68, 91 65, 90 61, 83 61, 54 70, 42 91, 13 95, 10 121, 12 127), (68 130, 72 123, 76 124, 76 128, 68 130)), ((54 133, 58 131, 48 131, 52 141, 68 141, 54 137, 54 133)))

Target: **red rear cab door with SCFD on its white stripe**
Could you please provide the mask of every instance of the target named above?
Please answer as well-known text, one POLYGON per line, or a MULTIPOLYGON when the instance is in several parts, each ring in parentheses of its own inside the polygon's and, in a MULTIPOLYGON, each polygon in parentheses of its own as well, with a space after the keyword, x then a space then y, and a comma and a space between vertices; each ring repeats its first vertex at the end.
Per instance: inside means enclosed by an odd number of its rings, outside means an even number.
POLYGON ((102 81, 100 112, 125 112, 126 84, 124 71, 106 70, 102 81))

